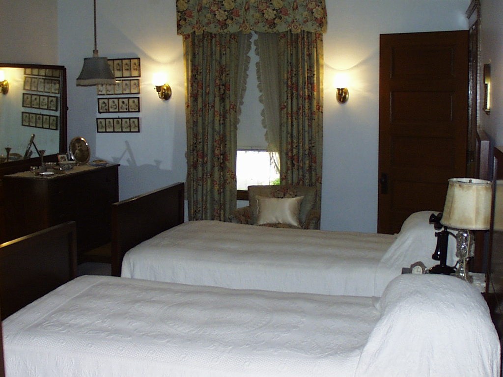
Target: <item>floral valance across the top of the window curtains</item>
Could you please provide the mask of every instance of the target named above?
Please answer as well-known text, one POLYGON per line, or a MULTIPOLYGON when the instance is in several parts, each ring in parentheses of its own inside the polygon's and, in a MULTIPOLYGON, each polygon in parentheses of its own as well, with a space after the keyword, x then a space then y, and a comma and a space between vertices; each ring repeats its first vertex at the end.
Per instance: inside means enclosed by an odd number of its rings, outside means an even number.
POLYGON ((177 0, 178 34, 325 32, 324 0, 177 0))

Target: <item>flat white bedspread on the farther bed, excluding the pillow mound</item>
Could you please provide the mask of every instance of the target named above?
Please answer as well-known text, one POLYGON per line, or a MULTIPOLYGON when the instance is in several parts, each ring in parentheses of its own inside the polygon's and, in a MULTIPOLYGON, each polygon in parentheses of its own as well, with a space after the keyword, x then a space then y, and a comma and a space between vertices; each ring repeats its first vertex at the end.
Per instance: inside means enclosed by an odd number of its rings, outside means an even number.
POLYGON ((388 234, 191 221, 129 250, 121 275, 234 289, 380 296, 401 273, 401 266, 392 266, 376 275, 395 239, 388 234))

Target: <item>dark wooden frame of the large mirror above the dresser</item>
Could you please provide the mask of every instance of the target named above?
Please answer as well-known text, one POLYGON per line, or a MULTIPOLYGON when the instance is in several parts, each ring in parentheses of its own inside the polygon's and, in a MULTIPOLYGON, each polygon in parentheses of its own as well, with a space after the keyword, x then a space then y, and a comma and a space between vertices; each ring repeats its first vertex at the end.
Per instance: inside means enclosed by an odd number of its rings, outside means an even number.
MULTIPOLYGON (((45 162, 56 162, 58 154, 67 153, 67 112, 68 103, 66 97, 66 68, 63 65, 47 64, 19 64, 19 63, 0 63, 0 68, 42 68, 42 69, 60 69, 61 70, 61 98, 60 98, 60 124, 59 124, 59 153, 44 155, 45 162)), ((0 177, 6 174, 12 174, 18 171, 27 170, 32 165, 40 164, 40 157, 31 157, 27 159, 9 161, 0 163, 0 177)))

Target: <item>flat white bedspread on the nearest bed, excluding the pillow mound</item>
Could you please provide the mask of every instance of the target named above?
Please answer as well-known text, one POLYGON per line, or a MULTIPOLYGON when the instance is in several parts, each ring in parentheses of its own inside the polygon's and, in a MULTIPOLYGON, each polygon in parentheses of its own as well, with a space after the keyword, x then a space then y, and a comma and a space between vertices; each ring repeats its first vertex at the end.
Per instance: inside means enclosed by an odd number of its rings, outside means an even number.
POLYGON ((351 376, 378 320, 371 298, 82 276, 4 321, 6 375, 351 376))

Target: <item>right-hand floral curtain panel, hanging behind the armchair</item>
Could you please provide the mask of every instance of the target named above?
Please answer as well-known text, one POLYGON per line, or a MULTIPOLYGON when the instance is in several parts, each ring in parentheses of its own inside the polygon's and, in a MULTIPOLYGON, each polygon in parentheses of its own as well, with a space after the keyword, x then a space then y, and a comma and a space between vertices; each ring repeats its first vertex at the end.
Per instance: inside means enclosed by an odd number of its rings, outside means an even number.
POLYGON ((281 33, 280 179, 316 186, 321 209, 323 156, 323 35, 281 33))

